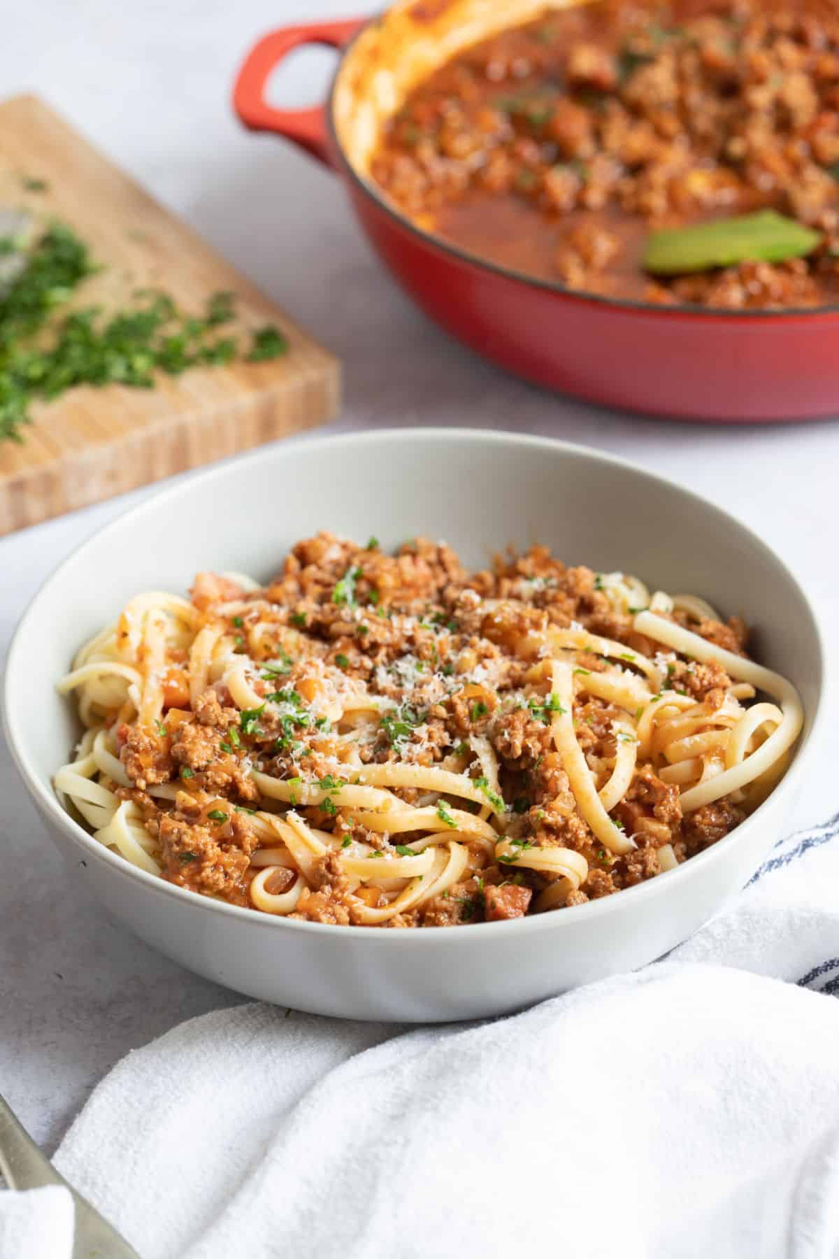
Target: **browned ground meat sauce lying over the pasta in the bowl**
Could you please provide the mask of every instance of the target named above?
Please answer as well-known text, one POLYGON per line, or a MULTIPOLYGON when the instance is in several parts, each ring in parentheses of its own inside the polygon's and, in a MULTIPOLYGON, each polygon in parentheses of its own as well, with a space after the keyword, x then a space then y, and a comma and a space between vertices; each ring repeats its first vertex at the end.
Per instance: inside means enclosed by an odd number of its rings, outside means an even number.
MULTIPOLYGON (((448 927, 540 912, 546 890, 565 885, 556 872, 513 867, 517 855, 532 849, 562 849, 587 864, 579 885, 565 888, 547 908, 633 886, 659 874, 665 847, 670 864, 683 861, 721 840, 745 815, 722 798, 683 816, 679 788, 662 781, 652 760, 638 759, 611 815, 614 825, 631 835, 631 851, 608 851, 581 816, 555 745, 555 696, 533 682, 546 651, 527 648, 528 636, 538 642, 552 627, 587 631, 608 635, 613 656, 619 650, 624 663, 616 667, 596 650, 580 650, 575 660, 576 738, 601 781, 611 772, 619 740, 629 735, 621 734, 626 713, 589 689, 596 690, 597 677, 608 672, 640 686, 642 666, 654 657, 667 687, 684 696, 688 708, 696 701, 713 714, 731 703, 731 680, 720 663, 662 652, 634 631, 636 609, 615 598, 614 580, 615 574, 604 580, 589 568, 569 568, 545 546, 468 573, 450 548, 421 538, 389 555, 375 539, 358 546, 327 533, 296 545, 264 588, 200 574, 191 593, 192 628, 221 633, 230 652, 224 669, 243 661, 260 703, 242 710, 221 680, 230 674, 219 672, 190 704, 189 651, 174 648, 161 718, 153 725, 113 720, 130 786, 111 787, 136 806, 164 879, 235 905, 252 904, 260 850, 278 844, 259 831, 257 811, 286 816, 286 806, 260 794, 253 771, 286 784, 325 787, 319 803, 298 810, 333 845, 311 860, 307 886, 291 914, 309 922, 352 925, 364 920, 365 906, 389 903, 386 888, 360 886, 347 878, 342 856, 352 845, 361 845, 366 857, 415 855, 403 842, 415 833, 371 828, 364 808, 336 808, 328 794, 341 783, 358 782, 364 767, 394 763, 467 776, 488 801, 497 801, 499 792, 503 799, 497 802, 506 808, 489 846, 463 840, 468 861, 458 881, 384 925, 448 927), (343 696, 345 710, 347 697, 374 696, 372 720, 367 715, 340 733, 327 719, 314 719, 311 705, 326 694, 343 696), (487 749, 497 765, 497 792, 484 777, 487 749), (507 857, 494 847, 502 837, 512 845, 507 857)), ((688 624, 679 611, 669 619, 688 624)), ((743 652, 746 631, 736 618, 727 624, 701 618, 691 628, 743 652)), ((341 720, 346 723, 346 711, 341 720)), ((460 810, 462 817, 488 813, 479 802, 429 797, 410 786, 395 788, 394 796, 436 810, 452 826, 452 810, 460 810)), ((281 864, 267 890, 283 895, 296 879, 297 872, 281 864)))

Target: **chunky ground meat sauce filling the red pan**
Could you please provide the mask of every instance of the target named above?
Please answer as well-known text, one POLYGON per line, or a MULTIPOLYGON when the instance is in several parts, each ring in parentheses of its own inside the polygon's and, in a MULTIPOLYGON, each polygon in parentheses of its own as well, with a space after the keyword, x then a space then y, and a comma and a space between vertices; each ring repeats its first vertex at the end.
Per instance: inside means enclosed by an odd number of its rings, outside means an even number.
POLYGON ((728 310, 839 300, 839 18, 818 0, 596 0, 436 71, 374 180, 421 228, 571 288, 728 310), (772 209, 809 257, 657 279, 653 228, 772 209))

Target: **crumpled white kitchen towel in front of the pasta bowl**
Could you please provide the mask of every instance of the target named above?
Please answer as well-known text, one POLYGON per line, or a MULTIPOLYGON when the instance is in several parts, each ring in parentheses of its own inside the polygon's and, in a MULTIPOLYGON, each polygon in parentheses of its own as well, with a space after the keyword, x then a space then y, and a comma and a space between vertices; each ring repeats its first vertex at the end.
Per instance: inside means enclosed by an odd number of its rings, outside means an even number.
POLYGON ((142 1259, 836 1259, 838 830, 665 961, 513 1017, 191 1020, 57 1166, 142 1259))

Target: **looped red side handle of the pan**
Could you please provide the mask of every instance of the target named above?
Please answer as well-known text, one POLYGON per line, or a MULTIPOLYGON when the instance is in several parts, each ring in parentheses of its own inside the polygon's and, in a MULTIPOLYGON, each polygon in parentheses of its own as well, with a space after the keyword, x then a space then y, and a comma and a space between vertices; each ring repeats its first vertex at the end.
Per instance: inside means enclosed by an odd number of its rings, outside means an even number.
POLYGON ((325 106, 275 110, 264 98, 265 83, 274 67, 292 49, 303 44, 343 48, 364 24, 365 19, 361 18, 350 21, 309 21, 301 26, 283 26, 264 35, 245 57, 233 89, 233 107, 245 127, 252 131, 275 131, 331 166, 325 106))

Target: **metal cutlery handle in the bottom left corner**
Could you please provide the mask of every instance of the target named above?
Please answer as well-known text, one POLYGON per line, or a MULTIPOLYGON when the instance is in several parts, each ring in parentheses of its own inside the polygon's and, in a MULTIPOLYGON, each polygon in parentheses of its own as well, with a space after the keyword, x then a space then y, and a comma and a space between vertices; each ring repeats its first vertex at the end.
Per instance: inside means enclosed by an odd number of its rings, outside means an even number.
POLYGON ((112 1229, 87 1199, 77 1194, 40 1152, 14 1110, 0 1094, 0 1172, 9 1188, 63 1185, 75 1204, 73 1259, 140 1259, 136 1250, 112 1229))

